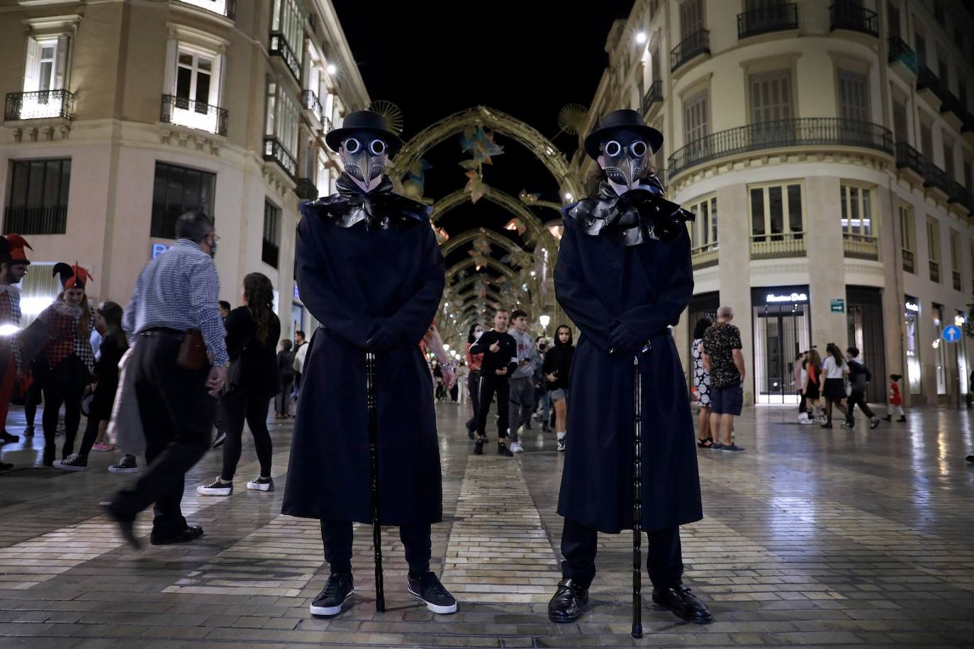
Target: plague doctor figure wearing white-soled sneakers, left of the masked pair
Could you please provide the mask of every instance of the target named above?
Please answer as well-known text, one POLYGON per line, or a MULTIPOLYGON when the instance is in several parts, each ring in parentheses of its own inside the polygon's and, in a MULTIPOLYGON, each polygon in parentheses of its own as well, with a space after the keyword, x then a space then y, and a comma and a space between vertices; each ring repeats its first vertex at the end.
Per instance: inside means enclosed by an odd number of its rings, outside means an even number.
POLYGON ((456 600, 430 571, 431 523, 443 505, 432 381, 419 348, 443 293, 443 256, 426 208, 393 194, 384 174, 402 143, 381 115, 350 113, 325 141, 345 172, 338 193, 301 206, 298 287, 321 325, 301 375, 282 512, 320 519, 331 575, 311 612, 337 615, 355 592, 352 524, 372 519, 365 353, 373 352, 379 520, 399 526, 407 591, 434 613, 453 613, 456 600))

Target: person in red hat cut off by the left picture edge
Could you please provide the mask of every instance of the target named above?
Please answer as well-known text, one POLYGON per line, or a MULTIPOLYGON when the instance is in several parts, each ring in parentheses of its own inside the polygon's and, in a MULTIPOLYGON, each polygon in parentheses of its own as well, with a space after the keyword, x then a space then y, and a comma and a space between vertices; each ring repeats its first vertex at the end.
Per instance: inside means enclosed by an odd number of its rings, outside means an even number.
MULTIPOLYGON (((11 344, 11 336, 20 327, 20 291, 15 288, 27 274, 27 260, 23 248, 30 244, 20 235, 0 237, 0 442, 19 441, 19 436, 7 432, 7 411, 10 407, 11 393, 20 373, 20 364, 15 353, 16 345, 11 344)), ((34 248, 30 248, 34 249, 34 248)), ((0 462, 0 469, 10 469, 14 465, 0 462)))

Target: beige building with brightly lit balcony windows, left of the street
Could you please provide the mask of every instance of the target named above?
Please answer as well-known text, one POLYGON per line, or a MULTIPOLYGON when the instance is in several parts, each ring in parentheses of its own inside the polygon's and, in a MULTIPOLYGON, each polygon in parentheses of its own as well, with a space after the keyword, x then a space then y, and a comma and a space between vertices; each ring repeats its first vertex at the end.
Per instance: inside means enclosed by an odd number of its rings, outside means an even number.
POLYGON ((261 272, 282 336, 314 325, 294 283, 297 206, 332 191, 324 134, 369 103, 328 0, 3 0, 0 61, 3 232, 34 248, 28 321, 56 295, 57 261, 124 306, 178 215, 202 210, 221 297, 240 304, 261 272))

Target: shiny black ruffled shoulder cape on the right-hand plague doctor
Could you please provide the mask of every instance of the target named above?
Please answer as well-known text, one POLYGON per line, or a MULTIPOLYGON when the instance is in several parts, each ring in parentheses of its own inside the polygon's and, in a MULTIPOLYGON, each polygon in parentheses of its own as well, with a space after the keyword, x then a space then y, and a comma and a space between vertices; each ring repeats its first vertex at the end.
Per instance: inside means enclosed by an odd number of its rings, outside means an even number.
MULTIPOLYGON (((650 177, 649 185, 662 191, 656 176, 650 177)), ((564 213, 581 232, 591 237, 606 236, 618 246, 637 246, 648 239, 669 243, 686 228, 687 221, 696 217, 648 186, 619 196, 606 181, 599 184, 597 195, 568 206, 564 213)))

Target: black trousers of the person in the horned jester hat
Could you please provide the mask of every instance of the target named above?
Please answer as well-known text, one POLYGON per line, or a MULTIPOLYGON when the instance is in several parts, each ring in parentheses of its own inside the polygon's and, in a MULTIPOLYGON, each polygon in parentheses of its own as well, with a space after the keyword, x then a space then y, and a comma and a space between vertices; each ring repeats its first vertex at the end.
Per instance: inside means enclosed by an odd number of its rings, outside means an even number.
POLYGON ((44 414, 41 423, 44 425, 44 462, 54 462, 56 455, 55 436, 57 435, 57 414, 60 406, 64 405, 64 445, 61 448, 61 459, 67 458, 74 452, 74 439, 78 436, 78 425, 81 423, 81 398, 85 394, 85 386, 91 379, 88 367, 77 356, 63 359, 57 366, 48 371, 44 378, 44 414))

